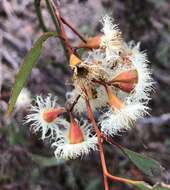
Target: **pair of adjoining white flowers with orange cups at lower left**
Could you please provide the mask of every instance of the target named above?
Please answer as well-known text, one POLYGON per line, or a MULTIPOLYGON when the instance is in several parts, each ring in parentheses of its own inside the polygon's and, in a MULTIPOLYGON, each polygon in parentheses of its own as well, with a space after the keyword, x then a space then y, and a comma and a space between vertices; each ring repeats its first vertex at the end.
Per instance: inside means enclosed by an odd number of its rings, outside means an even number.
POLYGON ((31 113, 26 116, 26 123, 31 123, 34 133, 41 132, 41 139, 52 141, 56 147, 57 159, 73 159, 86 155, 90 150, 97 149, 97 138, 92 133, 90 124, 74 119, 70 113, 70 122, 63 118, 65 108, 56 104, 57 97, 41 96, 36 98, 35 106, 31 107, 31 113))

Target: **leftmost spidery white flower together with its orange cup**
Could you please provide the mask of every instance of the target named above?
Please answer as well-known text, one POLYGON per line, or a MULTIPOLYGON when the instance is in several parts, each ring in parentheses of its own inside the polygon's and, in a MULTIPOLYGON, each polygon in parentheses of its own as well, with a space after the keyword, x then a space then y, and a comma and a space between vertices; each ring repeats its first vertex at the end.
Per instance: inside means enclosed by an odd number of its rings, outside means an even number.
POLYGON ((53 139, 60 134, 60 126, 68 126, 68 122, 65 119, 58 117, 58 114, 62 112, 63 108, 57 105, 56 101, 57 97, 52 98, 51 95, 47 96, 45 99, 41 96, 37 96, 35 105, 31 107, 30 114, 26 116, 26 123, 31 123, 34 133, 40 131, 41 139, 43 140, 47 137, 53 139), (50 111, 51 118, 45 118, 44 113, 50 111))

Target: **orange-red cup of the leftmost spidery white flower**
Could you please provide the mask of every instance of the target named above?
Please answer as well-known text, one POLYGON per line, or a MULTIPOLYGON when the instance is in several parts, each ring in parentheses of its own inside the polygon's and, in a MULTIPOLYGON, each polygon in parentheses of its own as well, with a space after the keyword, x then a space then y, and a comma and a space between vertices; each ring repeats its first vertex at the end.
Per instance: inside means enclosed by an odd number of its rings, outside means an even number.
POLYGON ((64 108, 50 108, 43 111, 42 117, 47 123, 51 123, 64 112, 64 108))

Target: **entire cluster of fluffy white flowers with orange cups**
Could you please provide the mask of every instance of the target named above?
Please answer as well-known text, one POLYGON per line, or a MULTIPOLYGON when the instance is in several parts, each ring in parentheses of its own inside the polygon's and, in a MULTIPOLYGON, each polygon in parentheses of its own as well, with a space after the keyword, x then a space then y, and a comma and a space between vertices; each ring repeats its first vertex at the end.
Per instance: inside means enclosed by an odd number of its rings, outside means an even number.
POLYGON ((66 105, 73 105, 73 109, 60 107, 51 96, 45 100, 37 97, 33 113, 27 116, 33 132, 40 131, 42 139, 51 139, 56 158, 77 158, 97 149, 97 137, 86 114, 87 99, 99 130, 107 136, 131 128, 148 113, 153 81, 146 53, 140 51, 139 43, 125 43, 109 16, 102 24, 101 35, 78 46, 86 49, 81 57, 70 55, 74 89, 66 94, 66 105), (82 119, 77 120, 75 114, 82 119))

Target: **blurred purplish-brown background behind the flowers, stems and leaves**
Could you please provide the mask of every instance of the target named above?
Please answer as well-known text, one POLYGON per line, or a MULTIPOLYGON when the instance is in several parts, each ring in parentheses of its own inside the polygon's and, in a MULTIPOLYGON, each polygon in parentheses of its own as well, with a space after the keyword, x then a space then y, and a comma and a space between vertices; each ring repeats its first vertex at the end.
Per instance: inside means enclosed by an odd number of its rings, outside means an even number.
MULTIPOLYGON (((43 0, 41 7, 46 25, 54 30, 43 0)), ((156 82, 150 116, 116 140, 156 159, 165 171, 161 177, 149 179, 115 147, 105 145, 107 164, 114 175, 150 184, 170 183, 170 1, 62 0, 60 10, 85 37, 100 32, 101 17, 108 13, 126 41, 140 41, 142 50, 147 51, 156 82)), ((66 32, 73 44, 78 43, 68 28, 66 32)), ((41 34, 33 0, 0 0, 0 190, 102 190, 98 153, 83 160, 58 162, 48 142, 42 143, 23 124, 27 105, 37 94, 52 93, 64 104, 71 80, 59 41, 49 39, 45 44, 12 117, 4 117, 22 59, 41 34)), ((111 182, 110 189, 133 188, 111 182)))

